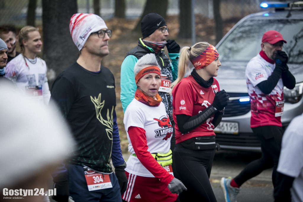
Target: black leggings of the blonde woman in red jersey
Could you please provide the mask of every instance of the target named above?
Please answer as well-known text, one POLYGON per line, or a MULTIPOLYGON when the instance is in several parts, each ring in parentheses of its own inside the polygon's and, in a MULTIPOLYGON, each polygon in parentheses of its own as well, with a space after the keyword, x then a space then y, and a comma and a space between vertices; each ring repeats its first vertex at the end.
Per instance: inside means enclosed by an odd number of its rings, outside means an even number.
POLYGON ((216 202, 209 181, 215 150, 190 150, 176 144, 173 153, 174 176, 187 188, 180 201, 216 202))

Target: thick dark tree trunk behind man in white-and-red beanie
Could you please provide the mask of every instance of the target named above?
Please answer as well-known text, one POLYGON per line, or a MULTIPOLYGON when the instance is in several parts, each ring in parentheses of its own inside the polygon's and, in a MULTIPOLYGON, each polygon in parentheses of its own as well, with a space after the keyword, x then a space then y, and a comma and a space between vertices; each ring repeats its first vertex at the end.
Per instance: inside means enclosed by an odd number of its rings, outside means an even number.
POLYGON ((69 32, 69 21, 77 13, 77 0, 43 0, 43 59, 48 66, 48 84, 78 58, 69 32))

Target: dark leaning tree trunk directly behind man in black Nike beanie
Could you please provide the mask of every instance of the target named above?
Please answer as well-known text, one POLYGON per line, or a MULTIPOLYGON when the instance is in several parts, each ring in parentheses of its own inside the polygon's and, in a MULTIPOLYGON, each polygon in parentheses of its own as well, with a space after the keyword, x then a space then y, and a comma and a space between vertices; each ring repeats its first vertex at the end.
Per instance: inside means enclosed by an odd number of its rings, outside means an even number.
POLYGON ((158 13, 166 20, 167 8, 168 8, 168 0, 147 0, 142 16, 138 21, 134 29, 134 32, 141 33, 141 21, 143 17, 148 13, 158 13))

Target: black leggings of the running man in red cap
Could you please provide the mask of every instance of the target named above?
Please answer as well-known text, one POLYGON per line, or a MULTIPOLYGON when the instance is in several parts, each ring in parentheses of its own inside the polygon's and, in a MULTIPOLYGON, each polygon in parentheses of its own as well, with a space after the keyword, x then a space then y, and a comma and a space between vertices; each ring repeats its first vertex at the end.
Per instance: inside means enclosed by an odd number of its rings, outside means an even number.
POLYGON ((260 126, 252 128, 252 131, 261 141, 262 156, 260 159, 249 163, 234 180, 241 186, 245 181, 257 176, 263 170, 273 167, 271 177, 275 187, 276 172, 281 151, 282 128, 279 126, 260 126))

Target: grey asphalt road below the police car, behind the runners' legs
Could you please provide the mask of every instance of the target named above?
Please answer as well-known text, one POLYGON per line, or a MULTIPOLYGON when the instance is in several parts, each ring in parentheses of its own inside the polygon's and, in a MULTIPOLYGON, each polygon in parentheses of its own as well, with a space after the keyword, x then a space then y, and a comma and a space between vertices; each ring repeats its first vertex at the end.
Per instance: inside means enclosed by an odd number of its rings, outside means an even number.
MULTIPOLYGON (((125 160, 129 154, 123 154, 125 160)), ((222 177, 235 177, 251 161, 261 157, 261 153, 220 150, 216 153, 211 170, 211 185, 217 202, 225 202, 220 186, 222 177)), ((238 202, 273 202, 272 169, 260 173, 241 186, 238 202)))

